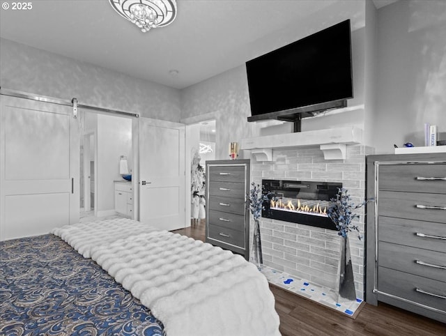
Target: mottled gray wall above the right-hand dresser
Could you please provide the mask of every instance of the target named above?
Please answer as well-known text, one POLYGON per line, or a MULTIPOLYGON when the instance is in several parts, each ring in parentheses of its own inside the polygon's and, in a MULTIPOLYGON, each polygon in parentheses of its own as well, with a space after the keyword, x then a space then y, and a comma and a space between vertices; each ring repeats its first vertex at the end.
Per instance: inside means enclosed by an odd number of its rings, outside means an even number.
POLYGON ((424 146, 424 123, 446 132, 446 1, 397 1, 377 26, 376 153, 424 146))

